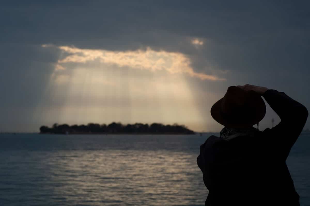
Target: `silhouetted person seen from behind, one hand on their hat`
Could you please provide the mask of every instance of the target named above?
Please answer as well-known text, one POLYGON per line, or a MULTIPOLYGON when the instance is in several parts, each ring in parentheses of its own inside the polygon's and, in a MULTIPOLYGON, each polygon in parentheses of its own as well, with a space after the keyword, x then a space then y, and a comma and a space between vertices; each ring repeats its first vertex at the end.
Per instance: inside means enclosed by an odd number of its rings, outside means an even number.
POLYGON ((210 136, 197 158, 209 190, 205 205, 299 204, 286 158, 308 118, 306 107, 283 92, 260 86, 230 86, 211 108, 211 116, 224 128, 210 136), (259 131, 266 105, 281 122, 259 131))

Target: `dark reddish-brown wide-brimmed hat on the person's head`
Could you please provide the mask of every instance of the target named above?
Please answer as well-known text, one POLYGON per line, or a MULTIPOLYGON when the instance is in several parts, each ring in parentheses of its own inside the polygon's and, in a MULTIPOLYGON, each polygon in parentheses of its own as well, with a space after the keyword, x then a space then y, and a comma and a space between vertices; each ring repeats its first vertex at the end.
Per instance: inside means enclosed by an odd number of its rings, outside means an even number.
POLYGON ((222 99, 211 107, 211 116, 225 127, 248 127, 266 114, 263 98, 253 90, 230 86, 222 99))

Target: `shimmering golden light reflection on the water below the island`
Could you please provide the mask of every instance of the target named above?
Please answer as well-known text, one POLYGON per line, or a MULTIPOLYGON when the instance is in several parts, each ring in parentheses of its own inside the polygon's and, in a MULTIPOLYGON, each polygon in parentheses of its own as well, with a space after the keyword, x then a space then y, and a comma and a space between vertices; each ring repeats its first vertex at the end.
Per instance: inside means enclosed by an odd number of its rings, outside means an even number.
MULTIPOLYGON (((47 162, 53 193, 72 204, 201 205, 207 191, 186 152, 60 151, 47 162)), ((55 200, 55 199, 54 199, 55 200)))

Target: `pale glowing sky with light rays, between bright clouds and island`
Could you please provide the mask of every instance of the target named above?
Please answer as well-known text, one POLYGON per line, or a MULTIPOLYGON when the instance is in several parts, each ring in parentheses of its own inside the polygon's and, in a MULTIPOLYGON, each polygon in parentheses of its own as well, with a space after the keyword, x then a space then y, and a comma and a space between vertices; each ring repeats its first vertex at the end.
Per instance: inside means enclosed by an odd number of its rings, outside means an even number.
POLYGON ((182 75, 170 78, 162 74, 151 77, 123 75, 121 68, 68 69, 68 74, 54 73, 49 82, 47 101, 42 103, 43 118, 58 123, 88 122, 124 124, 160 122, 185 124, 199 129, 202 114, 193 92, 182 75), (116 71, 116 72, 115 72, 116 71), (54 99, 62 99, 49 106, 54 99))

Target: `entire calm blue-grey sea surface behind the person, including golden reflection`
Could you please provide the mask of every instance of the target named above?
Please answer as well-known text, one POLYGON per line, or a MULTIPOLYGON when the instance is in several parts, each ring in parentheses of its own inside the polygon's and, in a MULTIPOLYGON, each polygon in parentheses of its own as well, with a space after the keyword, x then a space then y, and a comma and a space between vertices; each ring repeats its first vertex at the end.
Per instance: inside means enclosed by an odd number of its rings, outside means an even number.
MULTIPOLYGON (((0 205, 203 205, 196 158, 211 134, 0 135, 0 205)), ((287 159, 310 205, 310 135, 287 159)))

